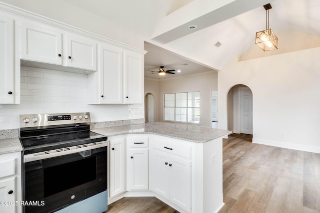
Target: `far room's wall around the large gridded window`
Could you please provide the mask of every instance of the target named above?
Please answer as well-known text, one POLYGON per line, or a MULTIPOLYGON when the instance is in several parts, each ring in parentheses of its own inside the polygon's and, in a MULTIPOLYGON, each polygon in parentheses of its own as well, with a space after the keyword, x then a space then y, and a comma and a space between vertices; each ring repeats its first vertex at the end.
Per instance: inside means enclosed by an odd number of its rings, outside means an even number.
POLYGON ((199 91, 200 92, 200 125, 211 127, 211 123, 212 123, 211 108, 210 108, 211 90, 216 90, 216 89, 217 89, 217 72, 216 71, 189 75, 181 78, 168 78, 168 79, 159 81, 159 95, 158 95, 159 120, 160 121, 163 120, 163 94, 199 91))

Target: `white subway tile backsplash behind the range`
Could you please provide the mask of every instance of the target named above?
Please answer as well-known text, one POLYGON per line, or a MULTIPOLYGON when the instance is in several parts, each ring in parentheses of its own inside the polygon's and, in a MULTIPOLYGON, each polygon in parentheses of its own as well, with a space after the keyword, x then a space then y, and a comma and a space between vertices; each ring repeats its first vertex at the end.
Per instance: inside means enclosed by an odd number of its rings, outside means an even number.
POLYGON ((144 118, 143 104, 86 104, 85 74, 21 67, 20 92, 20 104, 0 104, 0 129, 19 128, 20 114, 90 112, 91 122, 144 118))

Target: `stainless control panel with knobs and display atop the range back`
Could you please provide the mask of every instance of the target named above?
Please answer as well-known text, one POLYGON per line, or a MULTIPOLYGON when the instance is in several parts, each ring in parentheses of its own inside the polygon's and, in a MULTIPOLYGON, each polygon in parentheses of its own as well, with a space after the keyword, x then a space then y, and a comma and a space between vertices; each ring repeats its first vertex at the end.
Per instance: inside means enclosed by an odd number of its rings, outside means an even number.
POLYGON ((90 122, 89 112, 20 115, 20 128, 64 124, 90 124, 90 122))

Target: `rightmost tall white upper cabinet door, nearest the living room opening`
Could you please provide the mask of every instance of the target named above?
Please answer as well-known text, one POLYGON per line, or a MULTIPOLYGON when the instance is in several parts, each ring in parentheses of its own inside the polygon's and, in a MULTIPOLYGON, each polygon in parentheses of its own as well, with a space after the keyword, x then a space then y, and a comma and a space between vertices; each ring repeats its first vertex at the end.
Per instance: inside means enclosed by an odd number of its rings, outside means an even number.
POLYGON ((143 103, 143 54, 124 52, 124 103, 143 103))

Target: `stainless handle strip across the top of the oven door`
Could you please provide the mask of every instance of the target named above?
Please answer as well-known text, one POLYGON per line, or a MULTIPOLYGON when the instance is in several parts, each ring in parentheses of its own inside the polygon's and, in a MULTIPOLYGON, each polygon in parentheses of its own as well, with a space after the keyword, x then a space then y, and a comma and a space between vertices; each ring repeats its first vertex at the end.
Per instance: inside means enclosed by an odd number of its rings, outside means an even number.
POLYGON ((91 144, 84 144, 79 146, 66 147, 62 149, 49 150, 45 152, 27 154, 27 155, 23 155, 23 163, 58 157, 62 155, 73 154, 77 152, 83 152, 86 150, 97 149, 97 148, 106 147, 106 146, 108 146, 108 141, 99 141, 91 144))

